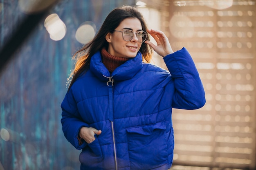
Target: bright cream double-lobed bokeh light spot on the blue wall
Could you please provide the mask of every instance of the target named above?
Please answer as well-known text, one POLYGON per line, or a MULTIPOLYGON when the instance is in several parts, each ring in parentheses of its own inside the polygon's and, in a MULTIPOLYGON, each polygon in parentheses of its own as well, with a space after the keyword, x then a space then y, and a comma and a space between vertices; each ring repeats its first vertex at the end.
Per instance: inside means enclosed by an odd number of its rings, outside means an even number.
POLYGON ((49 15, 45 19, 45 28, 50 34, 50 38, 54 41, 63 39, 67 31, 66 25, 56 13, 49 15))

